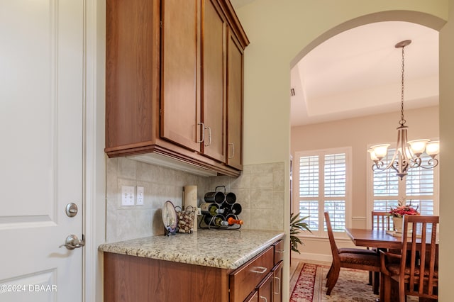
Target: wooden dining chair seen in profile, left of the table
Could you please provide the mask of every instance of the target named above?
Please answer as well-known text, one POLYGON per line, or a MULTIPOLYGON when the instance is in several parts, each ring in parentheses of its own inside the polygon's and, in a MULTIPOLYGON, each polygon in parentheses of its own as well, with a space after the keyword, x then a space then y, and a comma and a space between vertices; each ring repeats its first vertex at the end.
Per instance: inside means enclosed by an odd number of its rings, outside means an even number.
POLYGON ((377 252, 357 248, 338 248, 334 240, 333 228, 329 213, 325 212, 325 223, 328 230, 329 243, 331 245, 331 254, 333 262, 326 275, 326 294, 330 295, 336 282, 338 281, 341 267, 350 269, 362 269, 371 272, 380 272, 380 256, 377 252))

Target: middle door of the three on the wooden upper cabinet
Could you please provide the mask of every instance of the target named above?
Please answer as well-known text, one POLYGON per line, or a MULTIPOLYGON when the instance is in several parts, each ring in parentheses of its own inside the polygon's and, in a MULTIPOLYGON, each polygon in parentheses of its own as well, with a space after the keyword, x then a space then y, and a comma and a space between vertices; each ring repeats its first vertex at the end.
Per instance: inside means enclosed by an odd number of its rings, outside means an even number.
MULTIPOLYGON (((181 1, 179 1, 181 2, 181 1)), ((202 120, 204 155, 226 162, 226 21, 213 0, 202 7, 202 120)))

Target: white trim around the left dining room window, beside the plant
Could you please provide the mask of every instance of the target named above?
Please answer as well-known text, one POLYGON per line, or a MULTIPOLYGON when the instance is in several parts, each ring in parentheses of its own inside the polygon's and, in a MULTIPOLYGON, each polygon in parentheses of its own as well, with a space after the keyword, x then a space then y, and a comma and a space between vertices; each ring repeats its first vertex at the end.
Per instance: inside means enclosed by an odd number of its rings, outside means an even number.
MULTIPOLYGON (((353 162, 352 162, 352 147, 336 147, 336 148, 326 148, 318 150, 305 150, 305 151, 296 151, 294 152, 293 157, 293 208, 292 213, 299 213, 299 157, 311 156, 311 155, 321 155, 321 154, 335 154, 335 153, 345 153, 345 228, 351 228, 352 225, 352 171, 353 171, 353 162)), ((323 228, 324 228, 324 217, 323 219, 323 228)), ((335 232, 335 237, 338 238, 348 238, 347 233, 345 232, 335 232)), ((315 231, 313 233, 304 232, 304 237, 321 237, 327 238, 328 233, 325 231, 315 231)))

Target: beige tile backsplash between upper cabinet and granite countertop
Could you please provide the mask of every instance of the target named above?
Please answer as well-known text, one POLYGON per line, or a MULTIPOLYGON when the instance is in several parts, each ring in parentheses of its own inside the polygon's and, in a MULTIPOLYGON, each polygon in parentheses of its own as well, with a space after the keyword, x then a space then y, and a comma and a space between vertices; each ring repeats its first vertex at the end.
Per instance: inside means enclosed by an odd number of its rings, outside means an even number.
POLYGON ((284 163, 251 164, 240 177, 201 177, 124 157, 106 162, 106 241, 164 234, 161 208, 170 200, 182 206, 183 187, 197 186, 198 203, 216 186, 236 194, 242 228, 284 230, 284 163), (143 206, 121 206, 121 186, 143 186, 143 206))

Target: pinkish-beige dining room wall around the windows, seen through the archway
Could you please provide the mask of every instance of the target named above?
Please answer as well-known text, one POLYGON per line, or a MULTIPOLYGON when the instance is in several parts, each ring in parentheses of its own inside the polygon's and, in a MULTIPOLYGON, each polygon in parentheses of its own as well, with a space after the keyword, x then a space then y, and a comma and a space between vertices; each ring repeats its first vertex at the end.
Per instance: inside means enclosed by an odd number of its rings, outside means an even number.
MULTIPOLYGON (((406 125, 409 126, 409 140, 417 138, 438 138, 438 106, 406 110, 406 125)), ((292 128, 291 152, 319 150, 335 147, 351 147, 353 155, 352 172, 352 228, 366 228, 367 212, 367 169, 369 160, 367 146, 384 142, 395 142, 400 120, 400 111, 362 118, 350 118, 331 123, 319 123, 292 128)), ((294 157, 296 158, 296 157, 294 157)), ((294 172, 296 173, 296 172, 294 172)), ((294 196, 297 193, 294 192, 294 196)), ((327 239, 305 237, 301 255, 292 257, 328 261, 331 247, 327 239)), ((350 240, 340 240, 340 247, 353 247, 350 240)))

